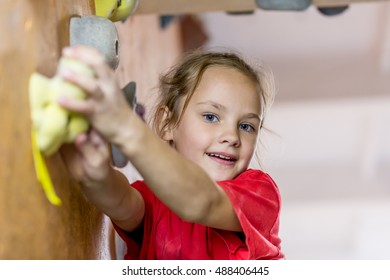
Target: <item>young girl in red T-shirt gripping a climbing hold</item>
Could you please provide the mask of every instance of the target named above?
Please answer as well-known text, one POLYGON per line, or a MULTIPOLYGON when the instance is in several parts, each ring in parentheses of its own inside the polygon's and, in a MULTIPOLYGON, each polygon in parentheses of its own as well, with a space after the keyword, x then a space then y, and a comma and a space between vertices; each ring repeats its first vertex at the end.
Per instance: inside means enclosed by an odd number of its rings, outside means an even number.
POLYGON ((61 75, 88 93, 60 98, 93 129, 62 148, 87 198, 127 245, 126 259, 280 259, 280 196, 248 169, 272 98, 264 73, 233 53, 194 52, 161 77, 154 131, 127 105, 100 53, 66 48, 95 77, 61 75), (110 165, 107 142, 144 181, 129 186, 110 165))

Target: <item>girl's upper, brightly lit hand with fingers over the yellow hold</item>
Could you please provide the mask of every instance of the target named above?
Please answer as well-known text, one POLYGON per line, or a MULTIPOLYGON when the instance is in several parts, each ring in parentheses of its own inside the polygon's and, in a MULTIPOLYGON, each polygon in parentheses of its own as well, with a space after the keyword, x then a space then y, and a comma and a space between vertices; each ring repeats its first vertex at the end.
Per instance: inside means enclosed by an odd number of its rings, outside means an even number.
POLYGON ((96 49, 86 46, 65 48, 63 55, 85 63, 94 71, 94 77, 75 74, 70 69, 63 69, 59 75, 87 93, 86 100, 74 100, 60 97, 64 108, 79 112, 87 117, 92 126, 109 142, 123 132, 122 125, 132 116, 124 94, 119 88, 114 71, 107 64, 104 56, 96 49))

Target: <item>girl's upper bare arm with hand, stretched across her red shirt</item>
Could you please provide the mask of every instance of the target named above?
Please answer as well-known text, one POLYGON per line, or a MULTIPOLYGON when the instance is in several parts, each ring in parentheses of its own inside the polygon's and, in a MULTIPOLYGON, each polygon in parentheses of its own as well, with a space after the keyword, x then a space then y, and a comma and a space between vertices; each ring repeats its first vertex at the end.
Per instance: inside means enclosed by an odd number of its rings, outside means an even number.
POLYGON ((222 188, 201 167, 162 142, 132 112, 115 82, 114 72, 97 50, 78 46, 65 49, 64 55, 89 65, 95 77, 63 70, 60 75, 83 88, 89 98, 60 99, 62 106, 84 114, 105 139, 117 145, 156 196, 182 219, 214 228, 242 230, 222 188))

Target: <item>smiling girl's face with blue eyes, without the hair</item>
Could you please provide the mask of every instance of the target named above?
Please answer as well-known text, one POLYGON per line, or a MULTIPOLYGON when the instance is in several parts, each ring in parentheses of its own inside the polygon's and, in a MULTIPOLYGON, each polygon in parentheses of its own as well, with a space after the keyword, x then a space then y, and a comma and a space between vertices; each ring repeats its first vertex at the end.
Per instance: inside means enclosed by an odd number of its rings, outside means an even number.
POLYGON ((248 168, 259 127, 255 84, 236 69, 210 67, 165 140, 214 180, 229 180, 248 168))

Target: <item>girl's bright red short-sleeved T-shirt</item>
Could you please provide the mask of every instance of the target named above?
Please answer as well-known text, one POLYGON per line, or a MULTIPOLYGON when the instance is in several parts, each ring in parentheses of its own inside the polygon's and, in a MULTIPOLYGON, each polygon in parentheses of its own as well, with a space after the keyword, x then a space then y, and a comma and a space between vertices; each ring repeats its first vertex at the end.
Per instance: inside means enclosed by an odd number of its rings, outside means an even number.
POLYGON ((233 180, 217 182, 229 196, 243 232, 215 229, 180 219, 146 186, 136 188, 145 200, 140 229, 124 232, 125 259, 222 260, 280 259, 280 195, 271 177, 249 169, 233 180))

